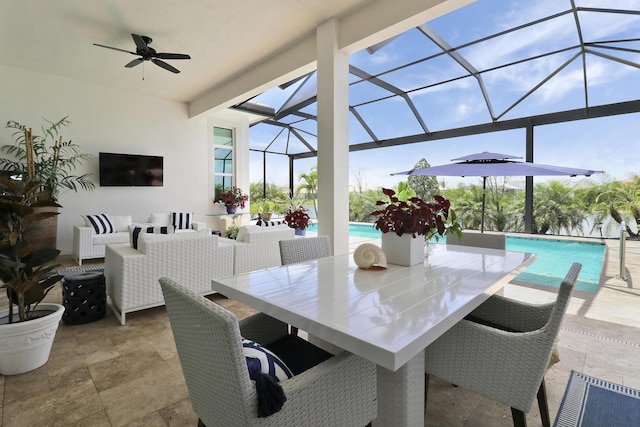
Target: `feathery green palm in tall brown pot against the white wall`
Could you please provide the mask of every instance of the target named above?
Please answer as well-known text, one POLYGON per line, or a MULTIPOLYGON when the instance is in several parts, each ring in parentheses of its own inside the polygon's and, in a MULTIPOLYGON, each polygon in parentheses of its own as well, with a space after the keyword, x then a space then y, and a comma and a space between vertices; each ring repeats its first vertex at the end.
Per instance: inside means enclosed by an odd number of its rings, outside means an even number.
MULTIPOLYGON (((13 129, 13 143, 0 147, 7 157, 0 158, 0 170, 25 182, 39 182, 40 189, 34 202, 58 201, 62 190, 93 190, 91 174, 74 174, 91 155, 80 152, 80 147, 71 140, 64 141, 60 132, 71 124, 68 117, 57 122, 45 119, 42 135, 34 135, 33 129, 11 120, 8 129, 13 129)), ((59 205, 41 206, 37 210, 58 212, 59 205)), ((41 222, 42 231, 31 237, 37 247, 56 247, 57 215, 41 222)))

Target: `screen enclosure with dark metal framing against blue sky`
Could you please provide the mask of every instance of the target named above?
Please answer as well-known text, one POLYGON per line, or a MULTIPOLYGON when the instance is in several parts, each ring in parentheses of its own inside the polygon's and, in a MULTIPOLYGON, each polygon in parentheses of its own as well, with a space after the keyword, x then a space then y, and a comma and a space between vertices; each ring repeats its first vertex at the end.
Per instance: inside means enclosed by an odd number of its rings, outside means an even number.
MULTIPOLYGON (((632 1, 478 0, 349 57, 349 151, 423 144, 421 157, 433 162, 429 147, 441 144, 451 147, 448 161, 468 154, 461 139, 506 133, 506 152, 539 161, 538 130, 548 125, 637 119, 630 113, 640 111, 639 68, 640 11, 632 1)), ((263 182, 288 169, 294 188, 296 163, 317 155, 316 77, 236 106, 264 115, 249 142, 263 182)), ((566 147, 555 163, 606 169, 573 163, 579 137, 546 144, 566 147)), ((408 155, 404 169, 419 158, 408 155)), ((526 187, 531 206, 531 177, 526 187)))

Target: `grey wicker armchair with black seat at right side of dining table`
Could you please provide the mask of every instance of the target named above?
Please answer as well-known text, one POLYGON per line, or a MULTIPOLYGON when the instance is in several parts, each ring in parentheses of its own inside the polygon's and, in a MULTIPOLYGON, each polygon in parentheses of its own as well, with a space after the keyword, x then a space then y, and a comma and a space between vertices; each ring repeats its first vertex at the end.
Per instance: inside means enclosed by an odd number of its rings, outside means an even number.
POLYGON ((544 374, 581 268, 571 266, 555 303, 491 297, 426 348, 425 372, 509 405, 515 426, 526 426, 537 396, 549 426, 544 374))

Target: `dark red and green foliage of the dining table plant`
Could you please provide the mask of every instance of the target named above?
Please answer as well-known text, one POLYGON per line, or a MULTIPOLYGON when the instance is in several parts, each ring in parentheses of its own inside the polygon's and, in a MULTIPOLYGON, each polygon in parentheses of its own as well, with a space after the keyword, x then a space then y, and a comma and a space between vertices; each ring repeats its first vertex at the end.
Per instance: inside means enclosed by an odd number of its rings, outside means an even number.
POLYGON ((384 208, 371 212, 371 216, 376 217, 376 230, 383 233, 394 232, 398 236, 412 234, 414 238, 416 235, 423 235, 427 240, 434 236, 438 240, 450 232, 461 236, 460 224, 456 221, 456 214, 451 209, 449 200, 434 196, 434 202, 427 203, 416 197, 415 192, 409 190, 406 184, 399 185, 398 189, 400 197, 391 189, 382 189, 389 201, 377 201, 376 206, 384 208))

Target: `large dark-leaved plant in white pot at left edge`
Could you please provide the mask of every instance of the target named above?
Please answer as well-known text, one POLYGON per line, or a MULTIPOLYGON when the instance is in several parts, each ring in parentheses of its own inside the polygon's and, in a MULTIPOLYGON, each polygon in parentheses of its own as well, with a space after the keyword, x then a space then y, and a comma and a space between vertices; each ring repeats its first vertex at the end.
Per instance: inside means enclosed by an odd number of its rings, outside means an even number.
POLYGON ((60 281, 59 265, 51 264, 57 249, 36 249, 29 237, 39 223, 55 212, 37 212, 43 201, 39 181, 0 177, 0 288, 6 288, 9 309, 0 311, 0 374, 15 375, 36 369, 49 352, 64 307, 42 300, 60 281))

